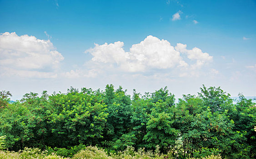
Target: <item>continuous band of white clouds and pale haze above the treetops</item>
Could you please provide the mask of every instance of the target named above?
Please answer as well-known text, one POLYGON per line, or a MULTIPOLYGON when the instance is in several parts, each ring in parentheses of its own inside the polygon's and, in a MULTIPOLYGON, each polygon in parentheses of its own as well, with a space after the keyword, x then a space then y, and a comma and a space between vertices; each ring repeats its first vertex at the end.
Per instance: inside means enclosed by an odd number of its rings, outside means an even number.
POLYGON ((197 47, 188 48, 186 44, 172 46, 167 40, 149 35, 126 51, 124 45, 121 41, 95 44, 85 50, 91 56, 83 59, 84 65, 67 64, 50 40, 6 32, 0 34, 0 82, 2 86, 13 84, 13 90, 20 87, 20 92, 31 88, 30 84, 34 84, 36 90, 50 88, 51 91, 70 85, 104 88, 105 84, 114 84, 143 92, 145 88, 158 89, 166 85, 180 91, 188 86, 196 89, 201 84, 219 81, 228 85, 255 79, 255 63, 241 65, 239 70, 234 60, 229 63, 230 58, 220 56, 213 60, 210 54, 197 47), (223 63, 216 65, 218 58, 223 63), (232 71, 231 66, 236 71, 232 71), (228 73, 223 73, 225 69, 228 73))

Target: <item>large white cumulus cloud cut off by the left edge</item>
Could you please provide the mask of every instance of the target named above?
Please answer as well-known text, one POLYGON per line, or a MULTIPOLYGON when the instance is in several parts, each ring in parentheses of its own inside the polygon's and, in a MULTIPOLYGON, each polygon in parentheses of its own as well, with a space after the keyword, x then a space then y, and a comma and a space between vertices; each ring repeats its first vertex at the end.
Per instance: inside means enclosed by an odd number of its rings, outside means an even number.
POLYGON ((19 72, 16 75, 46 78, 50 72, 59 68, 62 60, 64 57, 55 50, 50 40, 40 40, 29 35, 18 36, 15 32, 0 34, 1 74, 4 70, 11 70, 9 74, 19 72))

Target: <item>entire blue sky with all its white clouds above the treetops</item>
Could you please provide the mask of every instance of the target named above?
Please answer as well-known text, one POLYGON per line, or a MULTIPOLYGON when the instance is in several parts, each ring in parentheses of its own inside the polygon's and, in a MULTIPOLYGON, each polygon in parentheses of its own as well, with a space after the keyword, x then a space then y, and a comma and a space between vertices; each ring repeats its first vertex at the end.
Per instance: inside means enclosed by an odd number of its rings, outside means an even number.
POLYGON ((256 96, 256 0, 0 0, 0 90, 256 96))

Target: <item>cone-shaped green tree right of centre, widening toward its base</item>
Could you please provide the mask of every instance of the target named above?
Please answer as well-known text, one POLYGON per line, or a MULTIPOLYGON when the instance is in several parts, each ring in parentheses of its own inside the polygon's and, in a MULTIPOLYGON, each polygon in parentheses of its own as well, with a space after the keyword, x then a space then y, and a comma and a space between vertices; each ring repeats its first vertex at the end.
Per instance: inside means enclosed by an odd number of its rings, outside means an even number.
POLYGON ((154 149, 156 145, 159 145, 161 151, 167 153, 171 146, 175 145, 179 134, 179 130, 174 128, 175 119, 172 111, 175 98, 173 94, 168 93, 165 87, 165 89, 161 88, 152 93, 151 101, 154 105, 146 124, 144 136, 144 140, 147 141, 146 147, 154 149))

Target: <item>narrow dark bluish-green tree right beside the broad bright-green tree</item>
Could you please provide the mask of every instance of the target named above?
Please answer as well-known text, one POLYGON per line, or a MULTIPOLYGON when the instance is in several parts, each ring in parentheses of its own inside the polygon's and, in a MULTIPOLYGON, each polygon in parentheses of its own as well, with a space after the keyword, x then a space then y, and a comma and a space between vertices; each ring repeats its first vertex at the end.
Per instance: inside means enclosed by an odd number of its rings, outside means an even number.
POLYGON ((114 90, 112 84, 106 86, 104 94, 108 113, 104 140, 116 142, 131 129, 131 98, 121 86, 114 90))

